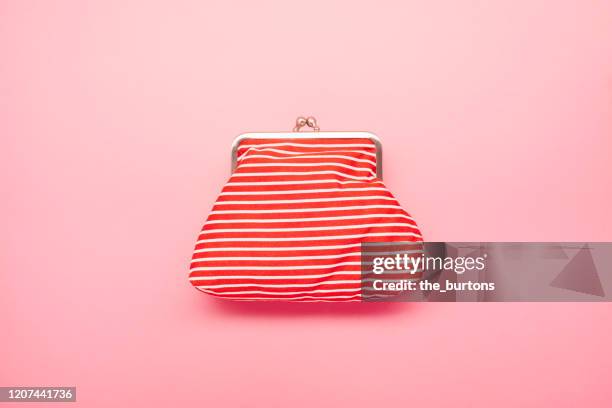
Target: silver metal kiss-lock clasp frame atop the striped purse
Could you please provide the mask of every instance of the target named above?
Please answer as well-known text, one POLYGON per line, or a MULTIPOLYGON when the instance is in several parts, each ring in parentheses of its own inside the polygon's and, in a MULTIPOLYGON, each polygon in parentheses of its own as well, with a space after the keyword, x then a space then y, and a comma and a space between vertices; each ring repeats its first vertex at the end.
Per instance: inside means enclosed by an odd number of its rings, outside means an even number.
POLYGON ((292 132, 257 132, 243 133, 234 139, 232 143, 232 173, 238 165, 238 146, 240 142, 247 139, 369 139, 376 147, 376 177, 382 180, 382 143, 378 136, 370 132, 323 132, 320 131, 317 120, 313 116, 304 118, 300 116, 295 121, 292 132), (312 132, 300 132, 300 129, 308 126, 312 132))

